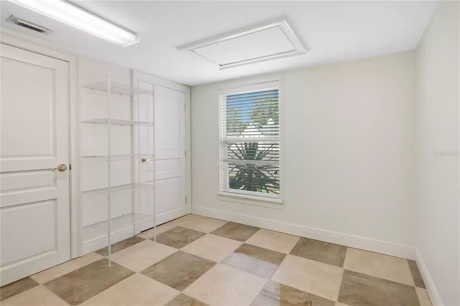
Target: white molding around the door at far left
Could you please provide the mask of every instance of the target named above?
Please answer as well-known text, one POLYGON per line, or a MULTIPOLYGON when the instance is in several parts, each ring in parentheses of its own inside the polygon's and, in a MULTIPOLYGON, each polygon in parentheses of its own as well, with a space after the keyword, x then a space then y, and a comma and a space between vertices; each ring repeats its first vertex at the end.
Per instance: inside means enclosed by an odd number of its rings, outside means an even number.
POLYGON ((69 163, 70 171, 70 258, 81 255, 80 207, 80 109, 78 104, 78 57, 75 52, 43 40, 0 28, 0 43, 68 62, 69 64, 69 163))

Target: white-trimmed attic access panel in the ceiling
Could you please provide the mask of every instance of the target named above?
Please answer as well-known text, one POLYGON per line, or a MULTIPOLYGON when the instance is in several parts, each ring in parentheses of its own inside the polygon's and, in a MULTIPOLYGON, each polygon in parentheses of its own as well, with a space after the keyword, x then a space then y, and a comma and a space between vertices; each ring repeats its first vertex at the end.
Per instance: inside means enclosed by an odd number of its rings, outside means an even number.
POLYGON ((286 21, 253 26, 179 46, 219 69, 305 54, 306 50, 286 21))

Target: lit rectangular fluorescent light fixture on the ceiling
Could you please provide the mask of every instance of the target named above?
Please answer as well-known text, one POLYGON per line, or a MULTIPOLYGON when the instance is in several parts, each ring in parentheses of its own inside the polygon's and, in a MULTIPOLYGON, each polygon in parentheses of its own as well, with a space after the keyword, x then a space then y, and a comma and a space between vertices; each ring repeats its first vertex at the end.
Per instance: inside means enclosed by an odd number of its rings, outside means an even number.
POLYGON ((114 44, 126 47, 139 42, 139 37, 89 11, 61 0, 10 0, 71 27, 78 28, 114 44))

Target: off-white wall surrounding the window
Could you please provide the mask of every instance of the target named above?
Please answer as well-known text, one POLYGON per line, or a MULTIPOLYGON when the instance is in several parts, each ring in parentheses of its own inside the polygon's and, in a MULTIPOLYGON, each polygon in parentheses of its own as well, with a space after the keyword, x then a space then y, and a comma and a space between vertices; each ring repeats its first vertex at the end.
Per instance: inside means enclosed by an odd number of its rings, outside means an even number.
POLYGON ((408 51, 192 87, 192 212, 313 227, 312 238, 342 244, 356 235, 412 245, 414 83, 414 52, 408 51), (278 210, 222 201, 219 89, 278 78, 284 84, 285 203, 278 210), (335 239, 316 229, 345 235, 335 239))

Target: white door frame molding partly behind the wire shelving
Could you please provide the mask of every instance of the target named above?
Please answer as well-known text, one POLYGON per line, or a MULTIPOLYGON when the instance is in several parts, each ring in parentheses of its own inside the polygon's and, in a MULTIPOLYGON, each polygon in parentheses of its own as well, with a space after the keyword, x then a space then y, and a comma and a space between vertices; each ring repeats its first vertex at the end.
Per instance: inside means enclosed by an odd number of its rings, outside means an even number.
MULTIPOLYGON (((191 167, 190 167, 190 87, 185 85, 180 85, 173 83, 164 79, 154 77, 150 74, 144 74, 142 72, 132 70, 132 85, 137 86, 139 81, 145 81, 157 86, 165 87, 172 89, 174 91, 183 92, 185 94, 185 150, 187 152, 185 156, 185 196, 187 197, 186 207, 191 213, 192 207, 192 197, 191 197, 191 167)), ((133 103, 133 113, 137 112, 137 103, 133 103)), ((138 153, 138 135, 133 137, 134 139, 134 151, 133 153, 138 153)), ((139 165, 135 163, 134 165, 134 180, 138 182, 139 180, 139 165)), ((138 205, 138 197, 136 197, 135 205, 138 205)))

